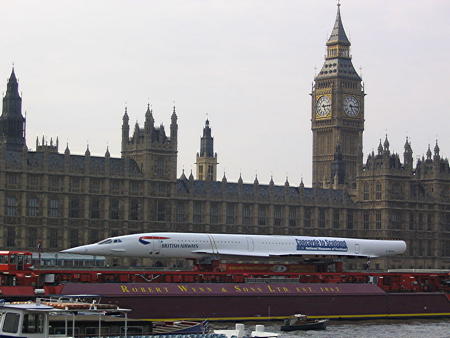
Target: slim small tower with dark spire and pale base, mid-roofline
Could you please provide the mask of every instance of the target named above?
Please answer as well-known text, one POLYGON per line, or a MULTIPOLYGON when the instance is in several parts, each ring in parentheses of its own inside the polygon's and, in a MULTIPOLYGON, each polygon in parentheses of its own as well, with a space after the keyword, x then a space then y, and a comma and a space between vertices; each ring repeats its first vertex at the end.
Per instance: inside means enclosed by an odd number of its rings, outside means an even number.
POLYGON ((203 128, 200 139, 200 153, 197 153, 197 180, 215 181, 217 179, 217 153, 214 153, 214 138, 211 137, 209 120, 203 128))

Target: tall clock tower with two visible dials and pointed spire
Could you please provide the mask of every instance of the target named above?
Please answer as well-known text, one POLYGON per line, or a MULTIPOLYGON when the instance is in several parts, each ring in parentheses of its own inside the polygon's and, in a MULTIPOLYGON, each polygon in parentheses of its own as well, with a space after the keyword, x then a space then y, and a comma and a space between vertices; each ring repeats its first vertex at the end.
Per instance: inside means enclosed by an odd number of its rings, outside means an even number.
POLYGON ((311 97, 313 187, 353 187, 362 165, 364 89, 352 64, 339 4, 311 97))

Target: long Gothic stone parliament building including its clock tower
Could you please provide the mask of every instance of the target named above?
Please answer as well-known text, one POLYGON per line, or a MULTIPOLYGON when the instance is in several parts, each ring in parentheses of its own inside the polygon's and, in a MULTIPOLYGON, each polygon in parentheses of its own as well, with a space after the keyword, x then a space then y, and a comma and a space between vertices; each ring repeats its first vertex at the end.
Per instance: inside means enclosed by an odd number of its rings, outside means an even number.
MULTIPOLYGON (((407 252, 376 269, 450 269, 450 168, 436 143, 413 161, 389 140, 363 154, 364 87, 350 55, 338 6, 323 67, 311 92, 313 182, 292 186, 217 178, 209 121, 196 177, 177 178, 178 123, 121 128, 121 157, 71 154, 58 140, 25 140, 13 69, 0 116, 0 247, 56 252, 121 234, 226 232, 402 239, 407 252), (415 162, 415 163, 414 163, 415 162)), ((300 112, 309 114, 308 112, 300 112)), ((119 122, 119 121, 118 121, 119 122)), ((194 158, 194 154, 193 154, 194 158)), ((129 264, 136 262, 131 261, 129 264)), ((346 269, 365 261, 348 260, 346 269)))

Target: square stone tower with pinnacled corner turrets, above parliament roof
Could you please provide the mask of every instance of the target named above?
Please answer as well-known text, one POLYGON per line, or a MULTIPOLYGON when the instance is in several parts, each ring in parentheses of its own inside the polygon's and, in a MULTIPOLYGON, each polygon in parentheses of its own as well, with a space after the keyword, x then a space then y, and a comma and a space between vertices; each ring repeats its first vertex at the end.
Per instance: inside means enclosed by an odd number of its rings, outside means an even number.
POLYGON ((122 157, 136 161, 146 178, 176 180, 178 123, 175 107, 171 116, 170 137, 162 124, 155 127, 150 105, 145 113, 144 128, 136 122, 133 136, 130 137, 127 109, 122 121, 122 157))

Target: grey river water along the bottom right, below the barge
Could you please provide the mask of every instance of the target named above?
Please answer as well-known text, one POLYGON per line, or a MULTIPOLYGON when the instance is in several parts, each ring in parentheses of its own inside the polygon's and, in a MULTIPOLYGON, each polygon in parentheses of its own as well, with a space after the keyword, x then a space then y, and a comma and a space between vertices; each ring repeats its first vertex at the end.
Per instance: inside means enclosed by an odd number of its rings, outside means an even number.
MULTIPOLYGON (((281 322, 259 323, 265 331, 280 332, 281 322)), ((213 328, 234 329, 234 323, 212 323, 213 328)), ((255 329, 255 323, 246 323, 247 332, 255 329)), ((330 321, 324 331, 296 331, 282 333, 281 338, 329 337, 329 338, 450 338, 450 319, 426 320, 373 320, 330 321)))

